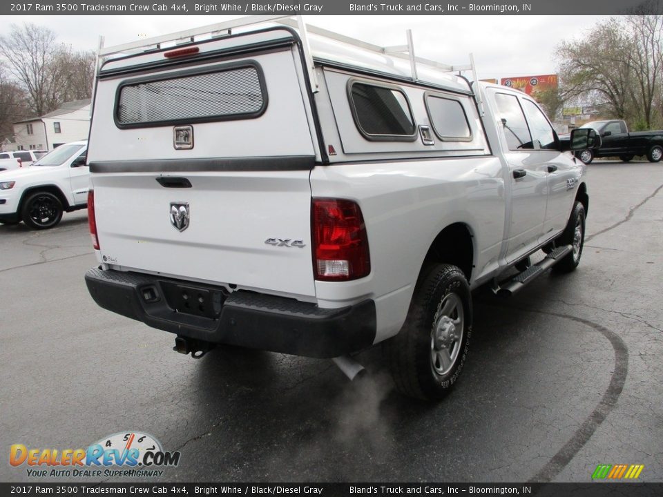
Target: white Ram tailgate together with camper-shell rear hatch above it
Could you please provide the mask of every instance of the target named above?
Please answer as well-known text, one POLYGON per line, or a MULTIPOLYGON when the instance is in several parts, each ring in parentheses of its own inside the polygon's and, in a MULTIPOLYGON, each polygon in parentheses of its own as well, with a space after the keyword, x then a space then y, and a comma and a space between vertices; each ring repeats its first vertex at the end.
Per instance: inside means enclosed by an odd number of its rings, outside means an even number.
POLYGON ((201 64, 102 70, 88 152, 99 257, 313 300, 316 148, 296 47, 208 62, 224 43, 201 64))

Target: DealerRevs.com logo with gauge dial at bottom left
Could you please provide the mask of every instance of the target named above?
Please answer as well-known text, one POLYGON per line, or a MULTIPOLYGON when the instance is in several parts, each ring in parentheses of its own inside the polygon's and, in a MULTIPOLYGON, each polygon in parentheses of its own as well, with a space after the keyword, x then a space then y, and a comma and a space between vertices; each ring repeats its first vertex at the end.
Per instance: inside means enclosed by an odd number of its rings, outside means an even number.
POLYGON ((124 431, 102 438, 87 449, 10 447, 9 463, 26 467, 30 477, 140 477, 164 474, 162 467, 180 464, 180 452, 164 451, 151 435, 124 431))

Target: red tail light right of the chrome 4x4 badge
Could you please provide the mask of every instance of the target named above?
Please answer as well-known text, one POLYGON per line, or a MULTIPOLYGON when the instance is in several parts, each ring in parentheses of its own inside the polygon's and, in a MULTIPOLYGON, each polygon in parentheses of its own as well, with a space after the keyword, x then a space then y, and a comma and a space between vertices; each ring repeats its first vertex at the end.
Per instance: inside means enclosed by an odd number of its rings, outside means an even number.
POLYGON ((361 208, 345 199, 313 199, 313 268, 316 280, 347 281, 369 275, 371 260, 361 208))

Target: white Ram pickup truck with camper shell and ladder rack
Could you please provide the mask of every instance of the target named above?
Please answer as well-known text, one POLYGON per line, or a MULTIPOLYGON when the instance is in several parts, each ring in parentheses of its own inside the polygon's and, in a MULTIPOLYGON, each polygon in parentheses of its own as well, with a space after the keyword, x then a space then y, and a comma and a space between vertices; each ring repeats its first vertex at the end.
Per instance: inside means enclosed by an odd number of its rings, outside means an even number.
POLYGON ((528 95, 411 43, 247 22, 102 50, 90 294, 194 357, 230 344, 354 376, 351 355, 384 344, 399 391, 441 398, 468 354, 472 290, 510 295, 579 263, 584 164, 528 95))

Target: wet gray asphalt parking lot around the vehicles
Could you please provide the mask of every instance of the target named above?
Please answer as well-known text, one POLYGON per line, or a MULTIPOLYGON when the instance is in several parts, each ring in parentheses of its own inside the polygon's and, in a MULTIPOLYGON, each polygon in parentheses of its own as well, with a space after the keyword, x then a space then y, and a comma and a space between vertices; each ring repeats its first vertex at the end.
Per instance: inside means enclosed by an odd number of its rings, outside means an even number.
POLYGON ((477 293, 466 369, 436 405, 398 396, 379 350, 359 384, 326 360, 177 354, 89 297, 86 213, 0 226, 0 481, 30 481, 12 444, 130 430, 181 452, 169 481, 589 482, 599 464, 663 481, 663 165, 588 174, 579 269, 510 300, 477 293))

